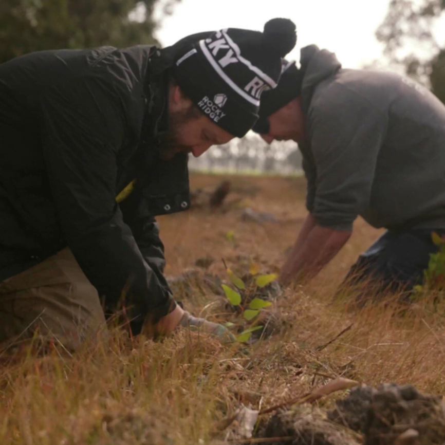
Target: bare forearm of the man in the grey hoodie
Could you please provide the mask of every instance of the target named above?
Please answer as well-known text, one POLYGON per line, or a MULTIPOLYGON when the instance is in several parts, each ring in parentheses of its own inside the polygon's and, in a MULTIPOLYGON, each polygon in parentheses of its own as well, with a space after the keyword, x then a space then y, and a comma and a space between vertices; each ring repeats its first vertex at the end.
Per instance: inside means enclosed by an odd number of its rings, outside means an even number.
POLYGON ((309 214, 281 269, 280 281, 287 284, 316 276, 337 255, 351 233, 318 226, 309 214))

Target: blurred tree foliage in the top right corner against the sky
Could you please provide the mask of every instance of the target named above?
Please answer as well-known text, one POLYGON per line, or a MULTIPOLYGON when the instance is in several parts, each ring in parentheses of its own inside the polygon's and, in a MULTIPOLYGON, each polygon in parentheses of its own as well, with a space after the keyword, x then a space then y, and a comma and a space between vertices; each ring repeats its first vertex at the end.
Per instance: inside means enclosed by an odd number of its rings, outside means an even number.
POLYGON ((445 103, 445 42, 437 40, 445 0, 391 0, 376 32, 384 53, 407 76, 428 86, 445 103))

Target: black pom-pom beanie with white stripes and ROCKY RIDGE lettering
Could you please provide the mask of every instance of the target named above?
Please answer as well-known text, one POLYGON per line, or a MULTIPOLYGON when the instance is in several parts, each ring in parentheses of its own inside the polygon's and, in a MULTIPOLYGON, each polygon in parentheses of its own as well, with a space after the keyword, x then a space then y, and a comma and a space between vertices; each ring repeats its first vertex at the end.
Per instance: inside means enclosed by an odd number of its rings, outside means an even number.
POLYGON ((183 45, 173 76, 209 119, 243 137, 258 119, 262 92, 276 87, 282 58, 295 43, 295 25, 286 18, 270 20, 263 32, 224 29, 183 45))

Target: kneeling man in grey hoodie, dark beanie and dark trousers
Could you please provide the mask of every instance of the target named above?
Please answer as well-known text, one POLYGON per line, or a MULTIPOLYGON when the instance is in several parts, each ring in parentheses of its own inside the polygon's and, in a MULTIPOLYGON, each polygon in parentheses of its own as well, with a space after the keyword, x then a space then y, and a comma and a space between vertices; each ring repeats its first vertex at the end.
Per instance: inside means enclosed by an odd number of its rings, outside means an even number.
POLYGON ((445 106, 395 73, 343 69, 311 45, 301 68, 283 65, 262 97, 254 130, 294 140, 303 155, 309 214, 281 271, 316 275, 340 251, 357 216, 387 231, 349 271, 359 300, 421 283, 432 232, 445 233, 445 106))

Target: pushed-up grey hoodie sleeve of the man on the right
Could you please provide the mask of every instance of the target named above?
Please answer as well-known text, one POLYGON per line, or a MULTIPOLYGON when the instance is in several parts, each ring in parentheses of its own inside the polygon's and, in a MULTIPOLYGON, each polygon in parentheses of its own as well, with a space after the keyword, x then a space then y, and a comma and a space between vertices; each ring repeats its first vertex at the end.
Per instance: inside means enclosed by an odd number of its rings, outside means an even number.
POLYGON ((320 226, 350 231, 369 204, 387 117, 357 92, 333 85, 314 103, 310 122, 312 213, 320 226))

